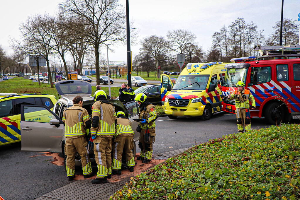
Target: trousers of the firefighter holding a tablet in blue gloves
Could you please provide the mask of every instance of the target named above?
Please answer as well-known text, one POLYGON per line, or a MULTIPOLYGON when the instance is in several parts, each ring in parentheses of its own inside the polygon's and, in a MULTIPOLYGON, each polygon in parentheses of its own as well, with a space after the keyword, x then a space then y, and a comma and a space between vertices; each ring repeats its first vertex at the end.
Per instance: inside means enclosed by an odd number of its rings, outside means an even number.
POLYGON ((153 143, 155 142, 155 128, 142 128, 140 133, 139 147, 141 149, 140 157, 148 160, 152 159, 153 143), (149 137, 146 135, 149 134, 149 137))

